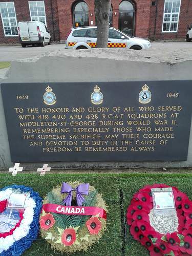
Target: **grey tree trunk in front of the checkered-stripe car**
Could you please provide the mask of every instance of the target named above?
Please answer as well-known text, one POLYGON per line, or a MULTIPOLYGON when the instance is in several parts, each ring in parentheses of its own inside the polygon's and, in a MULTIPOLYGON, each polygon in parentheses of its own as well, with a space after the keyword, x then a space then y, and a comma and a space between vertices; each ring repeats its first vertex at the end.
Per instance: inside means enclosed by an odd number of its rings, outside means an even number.
POLYGON ((95 0, 97 21, 97 48, 108 47, 110 0, 95 0))

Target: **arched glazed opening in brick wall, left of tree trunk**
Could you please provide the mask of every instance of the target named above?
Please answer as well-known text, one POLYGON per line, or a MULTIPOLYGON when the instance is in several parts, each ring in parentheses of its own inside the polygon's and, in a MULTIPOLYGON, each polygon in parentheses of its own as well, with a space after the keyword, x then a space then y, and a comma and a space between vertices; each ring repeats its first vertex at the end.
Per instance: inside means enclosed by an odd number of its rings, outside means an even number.
POLYGON ((78 1, 73 5, 73 26, 89 26, 89 8, 85 2, 78 1))

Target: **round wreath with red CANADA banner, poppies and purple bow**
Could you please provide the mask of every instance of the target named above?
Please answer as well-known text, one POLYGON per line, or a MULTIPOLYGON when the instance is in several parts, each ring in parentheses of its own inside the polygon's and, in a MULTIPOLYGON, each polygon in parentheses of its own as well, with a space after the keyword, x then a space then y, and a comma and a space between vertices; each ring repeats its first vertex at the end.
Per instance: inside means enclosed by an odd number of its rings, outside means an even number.
POLYGON ((68 254, 86 251, 106 229, 106 204, 88 183, 63 182, 45 197, 39 223, 52 248, 68 254))

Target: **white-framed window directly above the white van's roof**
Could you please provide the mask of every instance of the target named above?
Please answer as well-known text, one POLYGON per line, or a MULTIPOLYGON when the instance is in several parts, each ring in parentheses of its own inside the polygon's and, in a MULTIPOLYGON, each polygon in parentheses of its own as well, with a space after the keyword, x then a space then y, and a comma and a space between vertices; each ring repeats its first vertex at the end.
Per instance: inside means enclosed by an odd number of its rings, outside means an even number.
POLYGON ((46 12, 44 1, 29 1, 32 22, 42 22, 46 25, 46 12))

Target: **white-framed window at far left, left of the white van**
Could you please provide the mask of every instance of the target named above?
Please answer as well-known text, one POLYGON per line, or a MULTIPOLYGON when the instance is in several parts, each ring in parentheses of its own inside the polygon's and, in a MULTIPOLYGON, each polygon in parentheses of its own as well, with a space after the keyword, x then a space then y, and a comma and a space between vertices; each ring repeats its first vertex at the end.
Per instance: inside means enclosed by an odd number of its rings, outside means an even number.
POLYGON ((5 36, 18 35, 14 3, 0 3, 0 12, 2 16, 5 36))

